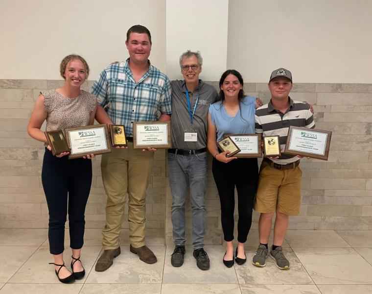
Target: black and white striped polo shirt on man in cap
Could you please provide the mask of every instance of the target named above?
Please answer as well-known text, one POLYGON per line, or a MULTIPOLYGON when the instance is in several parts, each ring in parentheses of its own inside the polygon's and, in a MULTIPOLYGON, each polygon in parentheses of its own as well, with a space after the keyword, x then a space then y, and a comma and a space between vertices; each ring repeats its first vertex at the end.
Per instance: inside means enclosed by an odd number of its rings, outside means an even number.
MULTIPOLYGON (((285 149, 287 142, 288 129, 293 126, 304 126, 314 128, 315 123, 310 106, 307 103, 292 100, 289 98, 289 108, 283 114, 275 109, 271 100, 256 109, 256 133, 262 136, 279 136, 280 151, 285 149)), ((297 156, 281 153, 279 159, 273 159, 275 163, 287 164, 298 160, 297 156)))

